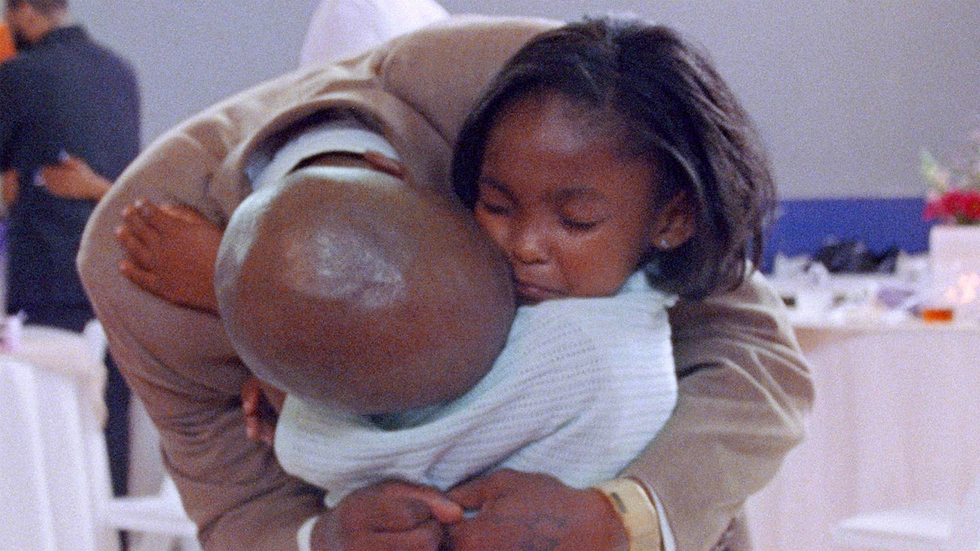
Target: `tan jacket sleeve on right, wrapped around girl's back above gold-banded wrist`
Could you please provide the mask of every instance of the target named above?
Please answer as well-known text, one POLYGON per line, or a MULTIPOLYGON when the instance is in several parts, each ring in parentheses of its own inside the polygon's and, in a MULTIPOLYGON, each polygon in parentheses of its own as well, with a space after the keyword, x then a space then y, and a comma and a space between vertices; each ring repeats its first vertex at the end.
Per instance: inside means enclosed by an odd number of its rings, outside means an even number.
POLYGON ((660 498, 678 551, 707 551, 804 435, 809 366, 760 274, 670 312, 673 416, 626 469, 660 498))

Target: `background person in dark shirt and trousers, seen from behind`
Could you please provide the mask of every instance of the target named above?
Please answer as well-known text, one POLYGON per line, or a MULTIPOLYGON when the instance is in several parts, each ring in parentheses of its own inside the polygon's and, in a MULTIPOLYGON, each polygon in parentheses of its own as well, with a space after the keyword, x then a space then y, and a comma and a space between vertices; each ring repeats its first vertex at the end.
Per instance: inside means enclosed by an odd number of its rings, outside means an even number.
MULTIPOLYGON (((0 169, 9 212, 7 312, 80 331, 95 315, 75 271, 82 230, 109 181, 139 151, 139 92, 129 63, 73 23, 67 0, 6 0, 18 56, 0 66, 0 169), (97 185, 48 186, 42 169, 83 160, 97 185)), ((73 181, 73 180, 69 180, 73 181)), ((107 441, 125 493, 128 400, 109 364, 107 441)))

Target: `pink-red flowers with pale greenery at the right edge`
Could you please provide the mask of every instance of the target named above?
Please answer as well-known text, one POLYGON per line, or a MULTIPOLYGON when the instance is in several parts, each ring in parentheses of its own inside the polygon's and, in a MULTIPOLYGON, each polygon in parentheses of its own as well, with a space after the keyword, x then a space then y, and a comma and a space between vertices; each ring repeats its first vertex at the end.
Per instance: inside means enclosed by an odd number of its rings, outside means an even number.
POLYGON ((930 183, 925 220, 945 224, 980 225, 980 129, 970 134, 965 155, 955 166, 944 166, 922 152, 922 175, 930 183))

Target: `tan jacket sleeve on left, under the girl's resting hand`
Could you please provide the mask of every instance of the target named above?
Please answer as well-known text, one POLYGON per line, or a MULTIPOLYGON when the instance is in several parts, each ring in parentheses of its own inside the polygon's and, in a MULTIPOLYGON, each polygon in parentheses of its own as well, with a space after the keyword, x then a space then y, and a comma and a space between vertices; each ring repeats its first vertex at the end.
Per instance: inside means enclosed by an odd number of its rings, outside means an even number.
MULTIPOLYGON (((274 87, 273 87, 274 88, 274 87)), ((189 205, 223 227, 248 193, 229 151, 268 117, 273 88, 221 104, 141 155, 86 227, 78 269, 126 381, 160 430, 166 467, 205 549, 295 549, 320 494, 286 476, 245 437, 239 390, 249 376, 213 316, 173 306, 118 270, 114 230, 138 198, 189 205)))

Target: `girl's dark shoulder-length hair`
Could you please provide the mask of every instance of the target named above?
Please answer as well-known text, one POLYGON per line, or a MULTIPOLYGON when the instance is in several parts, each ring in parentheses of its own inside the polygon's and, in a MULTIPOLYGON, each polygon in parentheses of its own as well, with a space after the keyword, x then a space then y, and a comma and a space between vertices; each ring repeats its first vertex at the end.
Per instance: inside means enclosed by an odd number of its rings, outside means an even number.
POLYGON ((453 185, 468 208, 498 115, 541 91, 561 93, 597 118, 625 158, 657 167, 658 204, 677 193, 690 200, 692 237, 644 257, 652 285, 700 298, 738 286, 747 259, 759 264, 775 187, 756 130, 704 54, 676 31, 639 20, 564 25, 536 36, 504 66, 457 143, 453 185))

